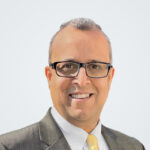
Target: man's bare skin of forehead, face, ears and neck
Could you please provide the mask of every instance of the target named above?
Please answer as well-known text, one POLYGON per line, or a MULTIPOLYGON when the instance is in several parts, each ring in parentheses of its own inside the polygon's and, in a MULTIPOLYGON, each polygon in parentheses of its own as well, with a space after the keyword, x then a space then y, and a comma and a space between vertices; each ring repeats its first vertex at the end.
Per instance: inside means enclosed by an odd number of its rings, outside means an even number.
MULTIPOLYGON (((72 26, 61 30, 51 46, 51 62, 74 60, 87 63, 92 60, 111 62, 110 45, 104 34, 97 30, 83 31, 72 26)), ((114 68, 105 78, 89 78, 85 69, 80 68, 75 78, 56 75, 51 67, 45 67, 54 107, 70 123, 90 133, 97 125, 102 108, 106 102, 114 68), (70 93, 93 93, 90 98, 72 99, 70 93)))

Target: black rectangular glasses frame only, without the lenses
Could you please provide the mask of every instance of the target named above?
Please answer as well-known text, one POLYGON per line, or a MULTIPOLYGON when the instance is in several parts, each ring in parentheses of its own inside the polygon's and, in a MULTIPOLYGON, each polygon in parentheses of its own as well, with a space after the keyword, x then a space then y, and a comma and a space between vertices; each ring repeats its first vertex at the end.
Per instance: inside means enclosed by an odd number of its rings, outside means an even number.
POLYGON ((80 62, 76 62, 76 61, 57 61, 57 62, 54 62, 54 63, 50 63, 49 66, 52 67, 52 69, 55 69, 55 72, 56 72, 56 74, 57 74, 59 77, 66 77, 66 78, 75 78, 75 77, 77 77, 78 74, 79 74, 79 71, 80 71, 80 68, 81 68, 81 67, 84 67, 84 68, 85 68, 86 75, 87 75, 88 77, 90 77, 90 78, 105 78, 105 77, 108 76, 108 73, 109 73, 110 69, 113 67, 113 66, 111 65, 111 63, 101 62, 101 61, 99 61, 99 62, 98 62, 98 61, 93 61, 93 62, 88 62, 88 63, 80 63, 80 62), (60 75, 57 73, 56 66, 57 66, 58 63, 63 63, 63 62, 72 62, 72 63, 78 64, 79 67, 78 67, 78 73, 77 73, 77 75, 76 75, 76 76, 60 76, 60 75), (107 74, 106 74, 105 76, 102 76, 102 77, 91 77, 91 76, 88 76, 88 73, 87 73, 87 70, 86 70, 86 65, 91 64, 91 63, 106 64, 107 67, 108 67, 107 74))

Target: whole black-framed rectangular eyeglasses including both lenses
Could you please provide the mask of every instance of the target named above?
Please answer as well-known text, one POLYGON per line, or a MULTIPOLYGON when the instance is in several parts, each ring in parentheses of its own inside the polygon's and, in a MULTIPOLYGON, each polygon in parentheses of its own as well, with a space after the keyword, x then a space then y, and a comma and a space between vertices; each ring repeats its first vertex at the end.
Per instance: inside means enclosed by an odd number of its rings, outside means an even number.
POLYGON ((81 67, 85 68, 86 75, 90 78, 104 78, 107 77, 112 65, 106 62, 89 62, 80 63, 74 61, 59 61, 50 63, 56 74, 60 77, 74 78, 79 74, 81 67))

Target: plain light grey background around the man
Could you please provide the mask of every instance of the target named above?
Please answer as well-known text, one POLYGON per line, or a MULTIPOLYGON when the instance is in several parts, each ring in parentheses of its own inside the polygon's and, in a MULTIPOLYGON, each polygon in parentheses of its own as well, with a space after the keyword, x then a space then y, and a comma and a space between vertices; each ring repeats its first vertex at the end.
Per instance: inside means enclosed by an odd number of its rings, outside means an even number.
POLYGON ((115 77, 101 121, 150 149, 149 0, 0 0, 0 134, 52 105, 44 67, 64 21, 88 17, 110 37, 115 77))

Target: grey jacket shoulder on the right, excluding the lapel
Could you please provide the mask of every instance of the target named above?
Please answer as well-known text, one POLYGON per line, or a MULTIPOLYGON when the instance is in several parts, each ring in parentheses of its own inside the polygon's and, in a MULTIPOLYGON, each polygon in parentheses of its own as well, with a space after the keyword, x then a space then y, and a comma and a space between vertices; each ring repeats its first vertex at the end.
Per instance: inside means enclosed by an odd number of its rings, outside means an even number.
POLYGON ((145 150, 143 144, 139 140, 120 131, 102 126, 102 132, 109 134, 109 136, 115 139, 117 144, 125 146, 126 148, 132 147, 132 149, 135 150, 145 150))

